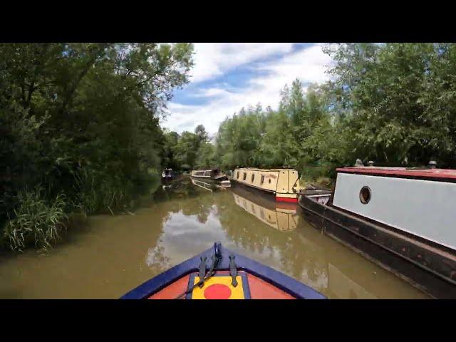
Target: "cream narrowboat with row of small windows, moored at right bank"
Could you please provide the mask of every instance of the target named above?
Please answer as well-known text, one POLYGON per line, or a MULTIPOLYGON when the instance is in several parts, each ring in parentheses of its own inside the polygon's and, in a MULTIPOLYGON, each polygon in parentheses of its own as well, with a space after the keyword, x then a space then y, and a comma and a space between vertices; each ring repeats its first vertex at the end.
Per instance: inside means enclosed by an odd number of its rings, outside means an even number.
POLYGON ((297 203, 299 175, 294 169, 262 170, 254 167, 234 169, 232 181, 236 185, 273 195, 276 201, 297 203))

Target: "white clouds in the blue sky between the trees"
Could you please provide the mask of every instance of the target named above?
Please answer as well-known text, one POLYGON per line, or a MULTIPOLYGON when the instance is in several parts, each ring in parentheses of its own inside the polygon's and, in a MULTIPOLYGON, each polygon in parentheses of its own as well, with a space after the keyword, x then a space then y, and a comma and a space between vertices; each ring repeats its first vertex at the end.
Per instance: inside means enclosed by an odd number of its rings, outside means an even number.
MULTIPOLYGON (((209 44, 204 44, 209 45, 209 44)), ((223 44, 216 44, 223 45, 223 44)), ((232 115, 234 112, 239 111, 240 108, 247 108, 249 105, 256 105, 261 103, 263 108, 268 105, 271 108, 276 108, 279 104, 280 90, 284 87, 285 83, 291 84, 295 78, 299 78, 302 83, 318 82, 321 83, 328 79, 328 74, 325 73, 326 65, 331 62, 331 58, 323 53, 321 45, 309 46, 308 48, 301 49, 296 52, 290 52, 289 48, 284 48, 283 44, 257 44, 268 45, 269 51, 280 52, 280 58, 275 58, 272 61, 257 63, 254 68, 261 73, 259 76, 254 76, 249 80, 247 88, 237 89, 236 92, 227 91, 224 88, 207 88, 202 89, 199 93, 194 94, 195 97, 207 97, 208 102, 204 105, 182 105, 180 103, 170 103, 168 106, 170 116, 162 124, 182 132, 182 130, 194 130, 195 127, 202 123, 209 133, 216 133, 219 124, 222 123, 224 118, 232 115), (277 45, 274 48, 274 45, 277 45)), ((197 55, 197 61, 209 61, 213 56, 207 56, 206 53, 211 53, 219 47, 214 48, 207 46, 206 50, 201 55, 197 55)), ((217 63, 211 64, 208 62, 211 73, 224 73, 228 68, 233 68, 239 63, 249 63, 252 59, 257 59, 268 56, 267 54, 261 55, 261 49, 258 46, 250 46, 247 56, 236 56, 237 53, 231 51, 242 51, 242 48, 232 48, 228 53, 222 53, 224 58, 228 61, 223 61, 222 56, 217 56, 213 60, 217 63), (235 58, 236 63, 230 61, 235 58), (215 67, 217 65, 217 67, 215 67), (211 69, 212 68, 212 69, 211 69)), ((219 50, 217 50, 219 51, 219 50)), ((224 50, 226 52, 226 50, 224 50)), ((263 52, 264 53, 264 52, 263 52)), ((212 62, 211 62, 212 63, 212 62)), ((208 70, 209 70, 208 69, 208 70)), ((209 71, 202 73, 197 71, 198 78, 209 78, 211 75, 209 71)))

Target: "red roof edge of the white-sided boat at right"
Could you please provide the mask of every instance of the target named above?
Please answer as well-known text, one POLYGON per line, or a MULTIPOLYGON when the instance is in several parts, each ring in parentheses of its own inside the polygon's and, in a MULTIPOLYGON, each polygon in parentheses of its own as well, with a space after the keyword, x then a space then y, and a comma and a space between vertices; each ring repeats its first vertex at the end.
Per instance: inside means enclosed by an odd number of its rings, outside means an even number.
POLYGON ((356 173, 363 175, 378 175, 387 177, 407 177, 407 178, 438 178, 456 180, 456 170, 453 169, 430 169, 430 168, 411 168, 411 167, 373 167, 373 166, 346 166, 336 169, 342 173, 356 173))

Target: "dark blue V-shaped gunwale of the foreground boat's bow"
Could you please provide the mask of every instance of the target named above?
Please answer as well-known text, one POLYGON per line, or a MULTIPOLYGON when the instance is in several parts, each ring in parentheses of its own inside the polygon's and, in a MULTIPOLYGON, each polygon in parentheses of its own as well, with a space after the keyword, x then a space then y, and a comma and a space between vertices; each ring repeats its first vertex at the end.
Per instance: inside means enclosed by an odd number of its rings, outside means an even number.
MULTIPOLYGON (((294 296, 296 299, 326 299, 326 296, 319 293, 311 286, 301 283, 296 279, 287 276, 286 274, 276 271, 269 266, 261 264, 257 261, 243 257, 229 249, 220 247, 222 252, 222 264, 217 268, 217 271, 229 271, 229 255, 233 254, 236 259, 237 269, 245 271, 249 274, 259 277, 260 279, 276 286, 278 289, 294 296)), ((214 247, 207 249, 201 254, 196 255, 181 264, 177 264, 167 271, 158 274, 157 276, 148 279, 140 286, 135 287, 124 294, 120 299, 145 299, 147 296, 157 293, 166 286, 181 279, 192 272, 198 271, 201 257, 212 257, 214 254, 214 247)))

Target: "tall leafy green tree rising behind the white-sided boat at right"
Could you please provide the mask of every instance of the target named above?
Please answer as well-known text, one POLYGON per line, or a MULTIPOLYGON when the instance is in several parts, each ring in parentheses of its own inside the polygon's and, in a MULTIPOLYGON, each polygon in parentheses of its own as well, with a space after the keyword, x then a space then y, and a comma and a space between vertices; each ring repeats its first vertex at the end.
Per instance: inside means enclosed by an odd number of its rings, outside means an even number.
POLYGON ((336 62, 331 93, 347 118, 353 156, 384 165, 425 165, 431 158, 455 165, 455 93, 448 82, 455 75, 454 49, 363 43, 328 51, 336 62))

